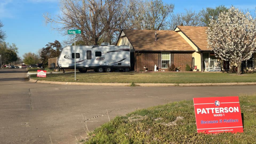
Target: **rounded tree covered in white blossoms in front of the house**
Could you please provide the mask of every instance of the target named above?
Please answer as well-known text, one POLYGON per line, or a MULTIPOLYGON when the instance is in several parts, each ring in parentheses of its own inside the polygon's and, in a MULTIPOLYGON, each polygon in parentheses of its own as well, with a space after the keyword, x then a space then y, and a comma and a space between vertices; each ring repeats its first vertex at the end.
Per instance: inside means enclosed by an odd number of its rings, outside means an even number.
POLYGON ((241 74, 242 62, 256 51, 256 21, 251 14, 231 7, 211 20, 206 34, 208 48, 217 57, 237 63, 237 74, 241 74))

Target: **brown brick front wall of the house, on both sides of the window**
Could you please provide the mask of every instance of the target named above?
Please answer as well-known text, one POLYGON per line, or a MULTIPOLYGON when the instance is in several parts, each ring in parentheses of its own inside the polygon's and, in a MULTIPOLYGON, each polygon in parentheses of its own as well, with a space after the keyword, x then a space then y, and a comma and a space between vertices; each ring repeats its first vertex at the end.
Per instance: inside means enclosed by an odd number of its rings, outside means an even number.
MULTIPOLYGON (((137 71, 145 71, 144 66, 148 68, 149 70, 154 71, 154 66, 158 66, 158 54, 152 54, 152 53, 142 53, 138 54, 135 53, 134 57, 136 58, 135 67, 137 65, 137 71)), ((186 64, 189 66, 192 62, 192 53, 189 54, 174 54, 174 65, 176 67, 181 67, 179 70, 185 71, 186 70, 186 64)), ((168 71, 169 69, 159 69, 159 71, 165 70, 168 71)))

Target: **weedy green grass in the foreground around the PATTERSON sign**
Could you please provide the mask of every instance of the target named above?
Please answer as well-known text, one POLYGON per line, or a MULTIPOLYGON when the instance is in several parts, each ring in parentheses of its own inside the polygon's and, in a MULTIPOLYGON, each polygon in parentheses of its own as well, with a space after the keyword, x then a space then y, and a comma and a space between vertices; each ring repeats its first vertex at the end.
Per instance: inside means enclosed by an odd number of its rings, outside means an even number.
POLYGON ((256 143, 256 95, 239 101, 244 133, 197 133, 193 101, 180 101, 118 116, 81 143, 256 143))

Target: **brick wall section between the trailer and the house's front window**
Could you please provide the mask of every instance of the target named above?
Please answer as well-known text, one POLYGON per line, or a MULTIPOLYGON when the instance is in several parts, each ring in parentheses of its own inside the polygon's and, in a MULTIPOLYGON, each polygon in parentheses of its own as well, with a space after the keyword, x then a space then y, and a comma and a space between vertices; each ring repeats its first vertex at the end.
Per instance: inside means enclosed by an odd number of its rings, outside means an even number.
MULTIPOLYGON (((143 70, 145 71, 143 67, 145 66, 149 70, 154 70, 154 66, 158 65, 158 54, 150 54, 150 53, 142 53, 135 55, 136 64, 137 64, 137 71, 143 70)), ((135 67, 136 69, 136 67, 135 67)))

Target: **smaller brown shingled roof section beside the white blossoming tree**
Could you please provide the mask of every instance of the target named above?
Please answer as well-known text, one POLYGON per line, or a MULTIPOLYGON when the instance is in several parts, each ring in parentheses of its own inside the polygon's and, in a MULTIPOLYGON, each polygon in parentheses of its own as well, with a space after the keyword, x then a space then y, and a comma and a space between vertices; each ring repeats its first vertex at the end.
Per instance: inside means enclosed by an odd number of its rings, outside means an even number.
POLYGON ((212 50, 207 48, 207 35, 205 26, 177 26, 199 49, 203 51, 212 50))

